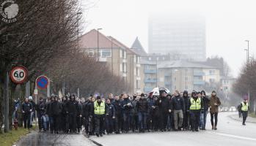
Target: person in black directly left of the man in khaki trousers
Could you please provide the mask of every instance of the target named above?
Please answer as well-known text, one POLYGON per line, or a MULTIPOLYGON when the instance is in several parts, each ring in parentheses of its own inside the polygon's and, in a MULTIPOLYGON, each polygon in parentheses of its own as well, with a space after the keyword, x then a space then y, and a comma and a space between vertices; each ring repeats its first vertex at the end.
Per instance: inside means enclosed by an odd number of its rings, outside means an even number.
POLYGON ((159 122, 161 131, 166 131, 168 114, 172 112, 172 107, 169 104, 167 99, 166 91, 159 91, 160 97, 156 101, 156 106, 158 107, 159 112, 159 122))

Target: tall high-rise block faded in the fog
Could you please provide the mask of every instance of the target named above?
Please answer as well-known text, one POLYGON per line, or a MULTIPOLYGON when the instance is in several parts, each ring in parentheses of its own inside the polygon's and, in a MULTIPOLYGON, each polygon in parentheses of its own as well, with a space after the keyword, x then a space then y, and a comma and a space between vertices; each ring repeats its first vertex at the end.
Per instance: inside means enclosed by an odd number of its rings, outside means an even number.
POLYGON ((200 15, 150 15, 149 53, 171 53, 180 59, 205 61, 205 18, 200 15))

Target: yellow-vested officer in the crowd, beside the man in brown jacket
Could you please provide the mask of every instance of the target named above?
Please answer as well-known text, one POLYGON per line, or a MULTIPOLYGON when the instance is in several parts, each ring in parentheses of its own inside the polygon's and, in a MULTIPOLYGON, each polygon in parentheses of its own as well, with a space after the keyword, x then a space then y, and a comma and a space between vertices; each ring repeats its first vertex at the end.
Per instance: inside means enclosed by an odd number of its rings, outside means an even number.
POLYGON ((198 131, 200 112, 202 110, 202 100, 198 98, 196 91, 191 93, 188 107, 191 115, 191 129, 192 131, 198 131))

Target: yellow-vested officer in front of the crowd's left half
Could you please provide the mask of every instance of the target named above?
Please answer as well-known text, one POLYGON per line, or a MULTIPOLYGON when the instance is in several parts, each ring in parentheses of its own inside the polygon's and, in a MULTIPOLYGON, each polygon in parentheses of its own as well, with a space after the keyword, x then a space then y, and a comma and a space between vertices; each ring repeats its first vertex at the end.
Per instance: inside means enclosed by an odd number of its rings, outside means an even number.
POLYGON ((103 124, 105 115, 108 113, 108 105, 97 96, 97 100, 93 104, 93 113, 95 118, 95 134, 97 137, 103 137, 103 124))

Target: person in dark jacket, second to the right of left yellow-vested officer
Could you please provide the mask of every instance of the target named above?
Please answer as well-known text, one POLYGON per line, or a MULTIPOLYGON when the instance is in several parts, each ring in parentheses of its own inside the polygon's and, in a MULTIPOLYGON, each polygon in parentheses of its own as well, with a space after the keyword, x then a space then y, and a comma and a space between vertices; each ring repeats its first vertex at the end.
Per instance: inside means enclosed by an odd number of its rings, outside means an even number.
POLYGON ((114 96, 114 110, 115 112, 115 120, 114 120, 114 127, 115 133, 120 134, 120 130, 122 129, 122 107, 121 107, 121 100, 119 96, 114 96))

